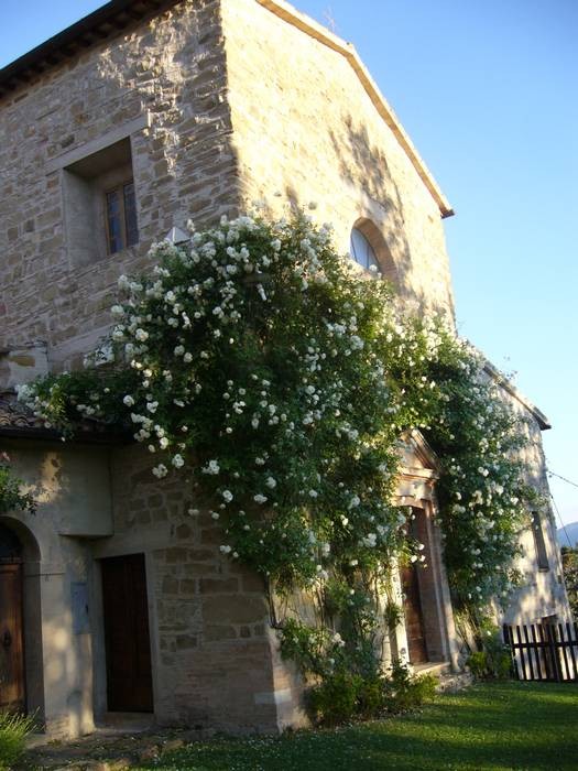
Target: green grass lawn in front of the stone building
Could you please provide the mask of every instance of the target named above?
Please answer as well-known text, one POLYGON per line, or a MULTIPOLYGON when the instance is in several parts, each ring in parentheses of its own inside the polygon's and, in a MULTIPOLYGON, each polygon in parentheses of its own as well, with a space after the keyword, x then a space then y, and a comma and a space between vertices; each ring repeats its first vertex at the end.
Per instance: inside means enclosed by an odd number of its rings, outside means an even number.
MULTIPOLYGON (((144 767, 143 767, 144 768, 144 767)), ((281 738, 190 745, 149 768, 178 771, 578 770, 578 684, 499 683, 422 713, 281 738)))

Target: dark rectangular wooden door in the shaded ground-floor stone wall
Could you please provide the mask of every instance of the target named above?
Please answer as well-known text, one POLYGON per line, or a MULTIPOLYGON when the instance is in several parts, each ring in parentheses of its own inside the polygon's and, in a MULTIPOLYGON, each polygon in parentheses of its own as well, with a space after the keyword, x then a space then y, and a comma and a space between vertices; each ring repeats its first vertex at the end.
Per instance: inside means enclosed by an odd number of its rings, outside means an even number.
POLYGON ((153 712, 143 554, 101 561, 109 712, 153 712))

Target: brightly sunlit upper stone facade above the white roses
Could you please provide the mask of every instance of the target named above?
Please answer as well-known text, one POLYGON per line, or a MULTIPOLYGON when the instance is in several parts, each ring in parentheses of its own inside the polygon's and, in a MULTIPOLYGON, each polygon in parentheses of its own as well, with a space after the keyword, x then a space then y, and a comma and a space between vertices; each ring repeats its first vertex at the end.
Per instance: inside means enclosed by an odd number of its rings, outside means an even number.
POLYGON ((276 3, 222 3, 244 205, 264 200, 280 215, 288 202, 314 202, 313 216, 335 226, 343 253, 351 227, 373 221, 405 307, 451 314, 438 204, 347 58, 268 4, 276 3))

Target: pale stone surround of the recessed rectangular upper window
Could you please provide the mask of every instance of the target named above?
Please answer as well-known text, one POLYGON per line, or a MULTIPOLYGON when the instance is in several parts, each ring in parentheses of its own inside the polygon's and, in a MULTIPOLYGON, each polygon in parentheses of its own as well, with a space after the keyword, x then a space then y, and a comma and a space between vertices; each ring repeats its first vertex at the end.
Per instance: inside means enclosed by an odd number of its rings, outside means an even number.
MULTIPOLYGON (((137 224, 139 222, 139 185, 137 174, 134 173, 134 135, 151 126, 151 113, 143 112, 131 121, 111 129, 94 140, 84 142, 78 146, 69 150, 54 159, 51 159, 45 166, 47 175, 58 174, 59 191, 62 196, 63 209, 63 231, 64 242, 70 267, 75 270, 91 268, 100 263, 103 259, 118 256, 132 248, 135 245, 123 246, 121 250, 111 252, 109 249, 108 222, 106 214, 106 192, 116 187, 122 186, 129 182, 134 185, 134 203, 137 209, 137 224), (81 206, 90 211, 86 215, 85 230, 88 226, 96 231, 96 238, 88 240, 79 236, 78 219, 72 210, 72 206, 67 198, 76 199, 75 192, 67 193, 67 186, 70 182, 78 184, 79 177, 75 170, 81 165, 89 163, 91 159, 98 156, 99 153, 106 153, 113 149, 114 145, 126 143, 128 153, 122 167, 110 170, 108 174, 102 174, 100 178, 97 174, 91 174, 88 177, 90 183, 98 183, 97 188, 91 194, 85 191, 86 200, 81 206), (70 173, 72 172, 72 173, 70 173)), ((80 181, 81 185, 81 181, 80 181)))

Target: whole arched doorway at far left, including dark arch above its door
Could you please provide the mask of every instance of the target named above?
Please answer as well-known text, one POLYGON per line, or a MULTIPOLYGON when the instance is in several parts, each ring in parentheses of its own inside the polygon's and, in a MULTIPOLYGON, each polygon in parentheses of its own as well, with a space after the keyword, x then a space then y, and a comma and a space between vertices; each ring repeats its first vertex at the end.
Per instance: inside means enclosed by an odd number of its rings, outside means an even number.
POLYGON ((0 518, 0 707, 42 720, 40 549, 19 520, 0 518))

